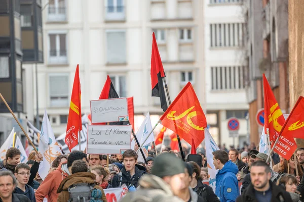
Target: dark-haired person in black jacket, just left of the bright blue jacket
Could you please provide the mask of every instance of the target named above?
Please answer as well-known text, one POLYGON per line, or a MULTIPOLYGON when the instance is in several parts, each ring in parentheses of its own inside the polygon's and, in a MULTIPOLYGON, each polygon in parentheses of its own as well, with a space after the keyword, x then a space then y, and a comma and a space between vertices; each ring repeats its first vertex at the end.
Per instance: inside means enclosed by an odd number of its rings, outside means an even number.
POLYGON ((193 161, 188 162, 187 164, 189 164, 193 169, 192 181, 190 183, 190 186, 195 192, 197 192, 199 196, 203 198, 201 202, 219 202, 219 199, 215 195, 212 188, 202 182, 203 179, 200 176, 201 169, 199 165, 193 161))

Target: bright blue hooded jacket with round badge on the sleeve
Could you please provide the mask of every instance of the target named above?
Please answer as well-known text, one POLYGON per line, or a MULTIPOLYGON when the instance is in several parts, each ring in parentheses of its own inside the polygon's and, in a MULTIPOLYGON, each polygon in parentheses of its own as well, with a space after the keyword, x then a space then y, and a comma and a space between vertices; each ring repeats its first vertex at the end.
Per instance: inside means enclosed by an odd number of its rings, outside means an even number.
POLYGON ((215 176, 215 194, 220 202, 235 201, 239 195, 238 179, 236 174, 239 169, 232 161, 228 161, 215 176))

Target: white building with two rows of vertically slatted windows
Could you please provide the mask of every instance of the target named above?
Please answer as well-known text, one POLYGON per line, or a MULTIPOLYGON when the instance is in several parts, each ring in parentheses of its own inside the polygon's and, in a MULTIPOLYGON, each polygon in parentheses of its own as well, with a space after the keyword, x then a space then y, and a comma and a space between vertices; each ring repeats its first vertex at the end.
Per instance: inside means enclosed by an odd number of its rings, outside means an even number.
POLYGON ((247 140, 248 112, 243 74, 246 67, 244 38, 245 19, 242 0, 204 1, 205 20, 205 85, 207 123, 217 143, 227 148, 233 144, 227 120, 240 120, 239 138, 235 145, 247 140))

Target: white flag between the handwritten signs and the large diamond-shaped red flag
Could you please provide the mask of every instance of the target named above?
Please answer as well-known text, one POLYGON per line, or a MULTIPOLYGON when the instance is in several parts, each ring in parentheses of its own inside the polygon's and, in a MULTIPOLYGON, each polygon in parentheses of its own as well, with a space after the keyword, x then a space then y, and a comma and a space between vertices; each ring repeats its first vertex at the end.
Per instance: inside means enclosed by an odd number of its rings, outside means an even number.
MULTIPOLYGON (((152 131, 152 129, 153 128, 151 125, 150 114, 148 113, 136 133, 136 137, 137 137, 137 140, 138 140, 140 146, 142 146, 142 143, 144 142, 145 138, 147 138, 148 134, 152 131)), ((148 156, 148 146, 153 141, 154 141, 154 134, 152 133, 148 137, 148 139, 144 142, 144 146, 141 148, 145 157, 148 156)), ((133 138, 133 140, 131 142, 131 149, 134 149, 134 146, 135 146, 135 139, 133 138)), ((143 157, 140 152, 138 152, 137 161, 144 162, 143 157)))

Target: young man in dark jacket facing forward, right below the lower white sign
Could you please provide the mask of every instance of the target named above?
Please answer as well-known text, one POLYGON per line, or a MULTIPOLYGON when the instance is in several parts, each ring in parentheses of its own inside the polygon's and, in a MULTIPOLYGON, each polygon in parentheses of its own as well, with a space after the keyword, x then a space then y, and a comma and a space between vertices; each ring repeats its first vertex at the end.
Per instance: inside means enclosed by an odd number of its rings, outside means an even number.
POLYGON ((128 149, 123 154, 124 167, 121 171, 122 179, 120 179, 120 174, 116 174, 112 179, 112 186, 122 187, 124 184, 128 187, 129 185, 134 185, 137 187, 139 178, 145 174, 145 167, 136 165, 137 154, 134 150, 128 149))

